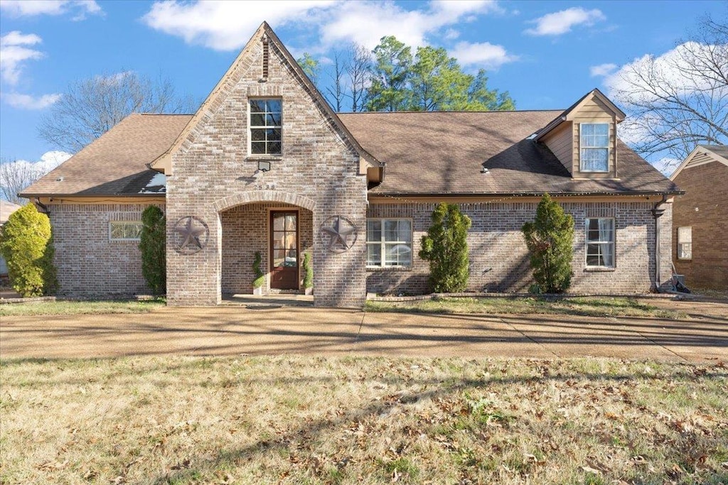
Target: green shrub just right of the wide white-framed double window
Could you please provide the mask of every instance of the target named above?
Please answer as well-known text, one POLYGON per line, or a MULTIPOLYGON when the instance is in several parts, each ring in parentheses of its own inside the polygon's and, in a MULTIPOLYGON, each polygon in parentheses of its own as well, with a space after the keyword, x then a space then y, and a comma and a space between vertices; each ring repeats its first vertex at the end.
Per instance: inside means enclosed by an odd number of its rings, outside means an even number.
POLYGON ((435 293, 462 292, 470 276, 467 230, 470 217, 456 204, 439 204, 432 212, 432 225, 422 236, 419 257, 430 261, 430 287, 435 293))

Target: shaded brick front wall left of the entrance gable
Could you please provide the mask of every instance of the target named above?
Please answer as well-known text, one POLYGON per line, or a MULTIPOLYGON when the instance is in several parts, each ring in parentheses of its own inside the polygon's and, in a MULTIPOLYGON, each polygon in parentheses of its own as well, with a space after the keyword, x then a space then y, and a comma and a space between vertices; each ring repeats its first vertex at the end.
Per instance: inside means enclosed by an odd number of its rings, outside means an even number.
MULTIPOLYGON (((50 204, 60 296, 149 294, 139 241, 111 241, 111 221, 141 222, 151 204, 50 204)), ((162 210, 164 204, 157 204, 162 210)))

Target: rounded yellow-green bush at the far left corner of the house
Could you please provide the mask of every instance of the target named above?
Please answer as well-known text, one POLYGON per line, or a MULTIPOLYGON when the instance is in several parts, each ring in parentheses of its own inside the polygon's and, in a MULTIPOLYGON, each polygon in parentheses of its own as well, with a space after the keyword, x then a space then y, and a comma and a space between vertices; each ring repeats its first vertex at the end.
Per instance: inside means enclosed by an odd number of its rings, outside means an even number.
POLYGON ((49 295, 58 289, 50 220, 34 204, 10 215, 2 227, 0 252, 13 289, 23 297, 49 295))

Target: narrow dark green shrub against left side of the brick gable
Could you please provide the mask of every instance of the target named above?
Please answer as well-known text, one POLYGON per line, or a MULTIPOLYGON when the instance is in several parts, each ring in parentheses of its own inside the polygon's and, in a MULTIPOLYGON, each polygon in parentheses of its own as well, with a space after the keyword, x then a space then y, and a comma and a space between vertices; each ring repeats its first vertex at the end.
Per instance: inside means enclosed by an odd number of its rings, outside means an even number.
POLYGON ((155 294, 167 292, 167 220, 157 206, 149 206, 141 215, 141 273, 155 294))

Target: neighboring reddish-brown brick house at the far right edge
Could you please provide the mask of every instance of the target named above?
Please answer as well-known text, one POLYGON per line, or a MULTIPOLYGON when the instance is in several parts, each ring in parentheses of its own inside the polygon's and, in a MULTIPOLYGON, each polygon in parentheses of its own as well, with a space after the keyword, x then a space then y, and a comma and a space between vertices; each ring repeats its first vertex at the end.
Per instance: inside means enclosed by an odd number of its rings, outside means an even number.
POLYGON ((689 288, 728 290, 728 146, 698 145, 676 169, 673 261, 689 288))

